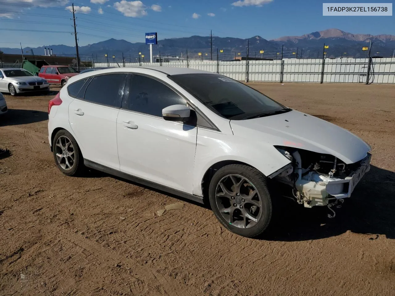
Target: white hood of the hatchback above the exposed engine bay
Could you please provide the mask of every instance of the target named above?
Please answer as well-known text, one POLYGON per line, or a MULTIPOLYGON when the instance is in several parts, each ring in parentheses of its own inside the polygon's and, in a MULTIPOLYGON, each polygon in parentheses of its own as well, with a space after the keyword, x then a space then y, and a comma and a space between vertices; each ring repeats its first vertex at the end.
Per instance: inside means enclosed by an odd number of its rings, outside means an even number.
MULTIPOLYGON (((331 154, 346 164, 366 156, 371 147, 342 127, 292 110, 283 114, 248 120, 231 120, 233 134, 322 154, 331 154)), ((250 142, 252 143, 252 142, 250 142)))

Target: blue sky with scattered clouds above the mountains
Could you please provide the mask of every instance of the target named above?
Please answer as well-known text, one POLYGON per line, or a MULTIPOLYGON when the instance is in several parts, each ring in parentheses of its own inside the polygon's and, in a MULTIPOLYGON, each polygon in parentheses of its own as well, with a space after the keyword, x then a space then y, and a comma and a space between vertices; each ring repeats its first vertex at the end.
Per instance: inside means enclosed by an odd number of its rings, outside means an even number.
MULTIPOLYGON (((79 45, 109 38, 144 42, 144 32, 158 32, 158 39, 208 36, 211 29, 220 37, 265 39, 328 28, 395 35, 394 16, 324 17, 322 2, 317 0, 76 1, 79 45)), ((23 47, 73 46, 68 6, 69 0, 0 0, 0 48, 19 47, 19 42, 23 47)))

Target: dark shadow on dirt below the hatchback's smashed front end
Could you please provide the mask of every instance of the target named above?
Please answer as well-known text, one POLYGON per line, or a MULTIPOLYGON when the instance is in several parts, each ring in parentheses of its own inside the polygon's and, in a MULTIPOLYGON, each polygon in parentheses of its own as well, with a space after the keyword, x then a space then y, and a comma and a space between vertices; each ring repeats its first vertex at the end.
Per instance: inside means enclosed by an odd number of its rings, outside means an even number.
POLYGON ((395 239, 395 173, 372 166, 355 187, 352 197, 344 199, 336 216, 327 207, 303 208, 292 200, 284 202, 281 217, 263 239, 276 241, 317 240, 337 236, 348 230, 395 239))

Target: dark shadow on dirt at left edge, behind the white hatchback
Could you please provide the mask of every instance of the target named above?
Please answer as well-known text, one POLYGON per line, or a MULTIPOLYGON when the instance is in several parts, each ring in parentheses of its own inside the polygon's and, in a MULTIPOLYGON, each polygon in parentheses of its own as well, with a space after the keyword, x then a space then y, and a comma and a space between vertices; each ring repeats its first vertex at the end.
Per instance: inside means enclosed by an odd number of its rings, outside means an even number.
POLYGON ((8 109, 8 112, 0 118, 0 126, 16 126, 19 124, 30 124, 44 120, 48 120, 48 112, 8 109))

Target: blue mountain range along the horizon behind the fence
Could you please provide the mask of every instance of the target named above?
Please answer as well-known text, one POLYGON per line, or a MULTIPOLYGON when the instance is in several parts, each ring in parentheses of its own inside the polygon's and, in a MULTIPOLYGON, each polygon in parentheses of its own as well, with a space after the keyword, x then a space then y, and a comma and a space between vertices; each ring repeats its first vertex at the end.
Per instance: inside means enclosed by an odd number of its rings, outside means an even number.
MULTIPOLYGON (((249 56, 262 56, 259 52, 264 50, 263 57, 275 58, 277 52, 281 53, 284 45, 284 57, 295 57, 293 52, 298 52, 300 57, 301 51, 303 58, 316 58, 322 56, 323 45, 329 45, 326 49, 327 57, 335 58, 337 56, 354 56, 356 58, 364 58, 366 52, 362 51, 362 47, 372 45, 372 55, 389 57, 393 55, 395 49, 395 36, 392 35, 376 35, 369 34, 352 34, 339 29, 328 29, 319 32, 312 32, 302 36, 284 36, 278 39, 266 40, 261 36, 254 36, 247 39, 233 37, 213 36, 213 59, 216 58, 216 50, 223 49, 224 56, 220 58, 231 59, 236 53, 242 56, 246 55, 246 47, 249 44, 249 56)), ((202 52, 204 58, 210 57, 210 36, 191 36, 182 38, 163 39, 158 41, 158 45, 153 46, 154 55, 162 54, 162 56, 180 56, 181 52, 185 56, 188 49, 188 56, 198 56, 198 52, 202 52), (205 54, 208 56, 205 56, 205 54)), ((49 45, 36 48, 25 47, 23 51, 30 52, 32 49, 35 55, 43 55, 44 48, 51 48, 53 54, 56 55, 75 55, 75 47, 67 45, 49 45)), ((19 54, 21 49, 18 48, 2 48, 6 54, 19 54)), ((96 55, 103 61, 104 54, 117 56, 121 60, 122 53, 125 60, 135 60, 138 53, 149 56, 149 49, 145 43, 130 43, 125 40, 108 39, 94 44, 79 46, 79 54, 81 58, 89 58, 96 55)))

